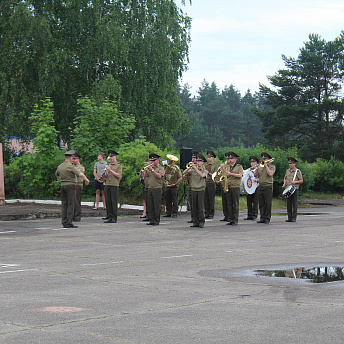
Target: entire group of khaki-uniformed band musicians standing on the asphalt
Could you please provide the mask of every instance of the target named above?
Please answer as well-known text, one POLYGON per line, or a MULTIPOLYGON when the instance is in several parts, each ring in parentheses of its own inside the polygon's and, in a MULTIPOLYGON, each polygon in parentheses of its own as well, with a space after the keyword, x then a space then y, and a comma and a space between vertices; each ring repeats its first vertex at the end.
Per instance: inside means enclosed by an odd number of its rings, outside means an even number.
MULTIPOLYGON (((266 152, 261 153, 262 159, 256 156, 249 157, 251 167, 244 170, 237 163, 238 155, 235 152, 225 153, 226 162, 218 166, 214 159, 216 154, 212 150, 207 151, 207 159, 193 150, 192 161, 186 164, 183 174, 176 165, 179 159, 174 155, 167 155, 166 169, 159 163, 160 156, 149 154, 149 160, 140 172, 140 178, 144 186, 144 200, 146 212, 143 221, 147 225, 157 226, 160 223, 162 188, 165 185, 166 213, 164 217, 176 218, 178 213, 178 185, 183 179, 185 185, 189 185, 189 203, 191 208, 190 227, 203 228, 205 219, 213 219, 215 214, 216 185, 221 187, 222 210, 224 218, 220 221, 227 225, 236 226, 239 221, 239 198, 242 181, 247 194, 247 217, 244 220, 256 220, 258 206, 260 219, 257 223, 270 223, 273 195, 273 176, 276 171, 272 164, 273 158, 266 152), (255 186, 250 189, 252 186, 255 186)), ((122 165, 117 161, 118 153, 108 150, 109 163, 102 172, 101 178, 97 175, 97 181, 106 180, 105 197, 107 216, 103 218, 106 223, 117 222, 118 187, 122 178, 122 165)), ((62 200, 62 224, 65 228, 76 227, 74 221, 80 221, 80 204, 82 183, 89 183, 84 175, 85 169, 80 164, 80 155, 75 151, 65 153, 65 162, 62 163, 56 176, 61 180, 62 200), (72 163, 72 164, 71 164, 72 163), (74 165, 73 165, 74 163, 74 165), (77 182, 78 178, 78 182, 77 182), (75 191, 77 192, 75 197, 75 191), (72 208, 75 208, 76 212, 72 208)), ((287 169, 283 187, 287 197, 287 222, 295 222, 297 216, 298 189, 303 182, 302 173, 296 168, 297 160, 288 157, 289 169, 287 169), (290 188, 290 190, 289 190, 290 188)), ((99 199, 98 199, 99 201, 99 199)))

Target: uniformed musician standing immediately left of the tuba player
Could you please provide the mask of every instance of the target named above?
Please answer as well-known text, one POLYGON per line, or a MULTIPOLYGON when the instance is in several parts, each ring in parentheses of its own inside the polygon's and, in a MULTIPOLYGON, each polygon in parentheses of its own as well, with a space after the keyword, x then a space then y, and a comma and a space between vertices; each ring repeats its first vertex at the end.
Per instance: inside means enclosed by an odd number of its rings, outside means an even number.
POLYGON ((164 168, 159 165, 160 155, 151 153, 149 160, 153 166, 147 166, 145 170, 145 184, 147 187, 147 215, 149 223, 147 225, 158 226, 160 223, 161 197, 164 168))

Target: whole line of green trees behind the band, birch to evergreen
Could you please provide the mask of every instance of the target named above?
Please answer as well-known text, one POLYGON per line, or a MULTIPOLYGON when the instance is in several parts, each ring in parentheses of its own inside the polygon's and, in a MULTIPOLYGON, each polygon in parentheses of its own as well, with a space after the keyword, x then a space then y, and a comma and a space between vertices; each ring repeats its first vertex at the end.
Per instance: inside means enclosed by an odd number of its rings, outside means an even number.
POLYGON ((204 81, 192 96, 178 84, 190 27, 173 0, 1 1, 0 140, 32 138, 30 117, 49 99, 57 146, 260 143, 297 147, 308 162, 343 159, 343 32, 328 42, 311 34, 255 94, 204 81))

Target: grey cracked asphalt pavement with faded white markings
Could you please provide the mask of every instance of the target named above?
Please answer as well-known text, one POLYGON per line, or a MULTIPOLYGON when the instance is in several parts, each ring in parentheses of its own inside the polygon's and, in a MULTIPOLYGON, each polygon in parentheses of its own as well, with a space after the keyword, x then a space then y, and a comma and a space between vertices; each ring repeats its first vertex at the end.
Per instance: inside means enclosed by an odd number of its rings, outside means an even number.
POLYGON ((285 209, 270 224, 241 212, 235 227, 218 212, 202 229, 189 213, 147 226, 138 210, 76 229, 5 219, 59 212, 39 209, 0 207, 0 343, 343 342, 344 282, 257 274, 344 267, 341 205, 301 208, 295 223, 285 209))

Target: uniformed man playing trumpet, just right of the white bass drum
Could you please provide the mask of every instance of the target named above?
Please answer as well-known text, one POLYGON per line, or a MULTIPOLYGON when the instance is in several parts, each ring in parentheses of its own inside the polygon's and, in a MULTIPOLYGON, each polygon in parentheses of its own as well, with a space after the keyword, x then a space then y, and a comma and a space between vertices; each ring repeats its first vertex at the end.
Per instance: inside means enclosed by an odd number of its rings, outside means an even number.
POLYGON ((274 184, 275 165, 269 162, 271 155, 263 152, 261 154, 264 167, 258 167, 254 172, 254 176, 258 178, 259 185, 256 192, 258 193, 260 220, 258 223, 270 223, 272 194, 274 184))

